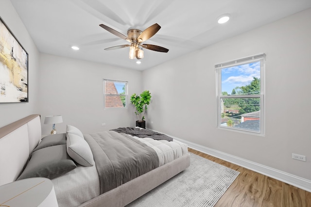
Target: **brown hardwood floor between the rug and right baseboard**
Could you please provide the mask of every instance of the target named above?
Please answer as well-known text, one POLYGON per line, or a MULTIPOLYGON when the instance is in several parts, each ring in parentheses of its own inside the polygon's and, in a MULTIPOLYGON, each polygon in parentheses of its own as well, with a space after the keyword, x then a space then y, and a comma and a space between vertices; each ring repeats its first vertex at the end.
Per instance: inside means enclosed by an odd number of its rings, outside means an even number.
POLYGON ((215 207, 311 207, 311 192, 211 155, 188 150, 240 172, 215 207))

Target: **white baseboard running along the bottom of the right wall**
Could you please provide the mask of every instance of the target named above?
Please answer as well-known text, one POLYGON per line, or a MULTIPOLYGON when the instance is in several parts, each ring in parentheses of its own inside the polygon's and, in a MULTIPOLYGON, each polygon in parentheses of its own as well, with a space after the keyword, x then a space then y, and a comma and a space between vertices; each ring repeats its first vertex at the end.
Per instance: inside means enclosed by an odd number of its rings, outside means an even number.
MULTIPOLYGON (((170 135, 167 135, 167 136, 170 136, 170 135)), ((233 156, 233 155, 229 155, 229 154, 217 151, 217 150, 213 150, 211 148, 208 148, 208 147, 205 147, 199 144, 195 144, 195 143, 192 143, 190 141, 187 141, 181 138, 176 138, 173 136, 170 136, 170 137, 187 144, 188 147, 190 147, 191 149, 200 151, 207 155, 211 155, 211 156, 223 159, 225 161, 231 162, 233 164, 239 165, 241 167, 247 168, 257 173, 264 174, 266 176, 275 178, 276 180, 282 181, 284 183, 290 184, 297 188, 311 192, 311 180, 298 177, 290 173, 285 173, 285 172, 276 170, 274 168, 270 168, 270 167, 258 164, 256 162, 249 161, 247 159, 243 159, 237 156, 233 156)))

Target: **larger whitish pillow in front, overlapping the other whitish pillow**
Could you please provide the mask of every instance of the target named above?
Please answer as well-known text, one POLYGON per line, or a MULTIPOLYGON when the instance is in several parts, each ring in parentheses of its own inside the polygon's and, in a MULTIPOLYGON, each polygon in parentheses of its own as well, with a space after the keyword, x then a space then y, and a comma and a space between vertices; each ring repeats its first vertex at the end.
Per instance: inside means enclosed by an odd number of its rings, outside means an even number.
POLYGON ((67 133, 67 153, 80 165, 90 167, 94 165, 91 148, 84 138, 67 133))

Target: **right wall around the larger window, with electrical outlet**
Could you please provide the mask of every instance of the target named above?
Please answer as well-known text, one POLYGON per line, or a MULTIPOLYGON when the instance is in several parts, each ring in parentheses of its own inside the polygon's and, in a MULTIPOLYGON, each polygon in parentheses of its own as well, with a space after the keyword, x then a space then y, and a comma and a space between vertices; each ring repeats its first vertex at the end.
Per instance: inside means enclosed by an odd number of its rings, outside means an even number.
POLYGON ((147 127, 311 180, 311 9, 143 71, 147 127), (265 137, 216 128, 214 65, 264 52, 265 137), (153 124, 151 124, 153 121, 153 124), (306 155, 307 162, 292 159, 306 155))

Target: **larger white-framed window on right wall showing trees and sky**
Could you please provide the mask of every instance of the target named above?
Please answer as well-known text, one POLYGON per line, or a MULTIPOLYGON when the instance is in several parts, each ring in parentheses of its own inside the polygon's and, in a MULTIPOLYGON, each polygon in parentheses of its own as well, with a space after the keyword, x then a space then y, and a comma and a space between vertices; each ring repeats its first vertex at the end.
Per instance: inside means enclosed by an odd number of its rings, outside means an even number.
POLYGON ((264 65, 259 54, 215 65, 219 128, 264 135, 264 65))

